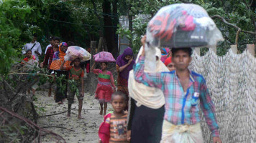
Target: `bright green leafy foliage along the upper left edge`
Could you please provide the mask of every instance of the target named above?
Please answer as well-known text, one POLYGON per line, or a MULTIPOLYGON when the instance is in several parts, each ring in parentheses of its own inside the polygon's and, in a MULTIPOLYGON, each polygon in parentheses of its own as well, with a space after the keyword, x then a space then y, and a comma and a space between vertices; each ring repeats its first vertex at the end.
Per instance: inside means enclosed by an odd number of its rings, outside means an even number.
POLYGON ((14 63, 12 57, 17 56, 17 49, 22 44, 19 41, 24 19, 30 13, 31 8, 26 1, 4 1, 0 3, 0 74, 7 74, 10 66, 14 63))

